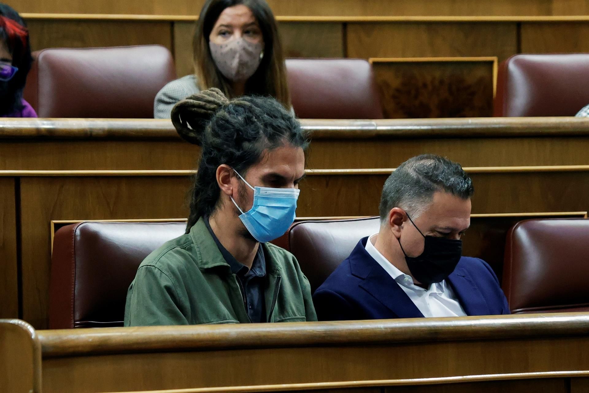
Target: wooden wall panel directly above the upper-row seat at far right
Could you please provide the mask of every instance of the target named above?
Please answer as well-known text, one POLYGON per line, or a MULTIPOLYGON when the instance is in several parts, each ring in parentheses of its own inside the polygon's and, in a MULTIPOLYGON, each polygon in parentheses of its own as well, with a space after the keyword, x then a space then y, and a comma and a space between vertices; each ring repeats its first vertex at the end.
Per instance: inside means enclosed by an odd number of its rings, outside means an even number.
POLYGON ((589 23, 522 23, 521 52, 589 52, 589 23))

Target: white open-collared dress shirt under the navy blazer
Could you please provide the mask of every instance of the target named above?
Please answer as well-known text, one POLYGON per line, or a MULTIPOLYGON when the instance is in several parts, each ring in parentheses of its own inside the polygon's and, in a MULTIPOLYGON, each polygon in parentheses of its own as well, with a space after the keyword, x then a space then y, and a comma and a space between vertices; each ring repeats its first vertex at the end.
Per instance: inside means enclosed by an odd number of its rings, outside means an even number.
POLYGON ((466 316, 464 309, 460 305, 458 298, 446 280, 438 283, 432 283, 428 289, 421 288, 413 283, 411 276, 406 275, 397 269, 388 259, 386 259, 379 250, 372 244, 372 239, 378 234, 372 235, 366 242, 366 252, 373 257, 376 262, 401 287, 403 292, 409 296, 409 299, 417 306, 419 311, 426 317, 438 316, 466 316))

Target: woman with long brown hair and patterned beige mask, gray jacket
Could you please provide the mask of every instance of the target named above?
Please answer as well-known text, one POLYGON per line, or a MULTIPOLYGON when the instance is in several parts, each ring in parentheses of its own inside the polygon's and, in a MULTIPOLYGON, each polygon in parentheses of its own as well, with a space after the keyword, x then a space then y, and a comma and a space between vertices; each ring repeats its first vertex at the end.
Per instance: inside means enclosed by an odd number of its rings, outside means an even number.
POLYGON ((155 96, 154 117, 170 118, 184 98, 211 87, 228 98, 270 95, 290 109, 276 20, 265 0, 207 0, 194 33, 194 75, 155 96))

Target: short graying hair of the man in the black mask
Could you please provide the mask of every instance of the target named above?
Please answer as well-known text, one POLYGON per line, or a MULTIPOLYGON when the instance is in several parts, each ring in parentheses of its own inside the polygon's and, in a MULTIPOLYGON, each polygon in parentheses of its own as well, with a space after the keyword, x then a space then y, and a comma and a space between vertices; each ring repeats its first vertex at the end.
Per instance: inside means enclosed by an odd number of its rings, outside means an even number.
POLYGON ((411 213, 412 219, 423 213, 435 191, 446 191, 462 199, 474 194, 472 180, 460 164, 435 154, 409 158, 385 181, 380 196, 380 222, 387 220, 393 207, 411 213))

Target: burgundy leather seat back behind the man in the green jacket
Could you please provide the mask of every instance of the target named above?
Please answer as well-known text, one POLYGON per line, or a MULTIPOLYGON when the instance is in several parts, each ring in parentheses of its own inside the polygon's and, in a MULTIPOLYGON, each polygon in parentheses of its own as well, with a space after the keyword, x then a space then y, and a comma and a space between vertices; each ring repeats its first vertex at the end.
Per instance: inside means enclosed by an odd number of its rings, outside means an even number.
POLYGON ((82 222, 55 232, 49 328, 123 326, 127 289, 153 250, 186 223, 82 222))

